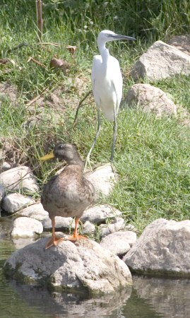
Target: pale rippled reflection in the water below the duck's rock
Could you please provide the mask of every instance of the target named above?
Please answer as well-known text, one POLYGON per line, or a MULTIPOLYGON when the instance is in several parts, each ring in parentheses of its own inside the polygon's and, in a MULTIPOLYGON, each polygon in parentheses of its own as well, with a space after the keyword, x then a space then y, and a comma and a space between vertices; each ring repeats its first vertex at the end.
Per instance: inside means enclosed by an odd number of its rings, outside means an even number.
POLYGON ((15 281, 11 281, 10 286, 20 299, 25 300, 28 307, 38 308, 44 317, 118 317, 115 315, 118 308, 121 308, 131 296, 131 288, 116 295, 89 299, 88 295, 79 293, 48 293, 42 288, 20 285, 15 281))

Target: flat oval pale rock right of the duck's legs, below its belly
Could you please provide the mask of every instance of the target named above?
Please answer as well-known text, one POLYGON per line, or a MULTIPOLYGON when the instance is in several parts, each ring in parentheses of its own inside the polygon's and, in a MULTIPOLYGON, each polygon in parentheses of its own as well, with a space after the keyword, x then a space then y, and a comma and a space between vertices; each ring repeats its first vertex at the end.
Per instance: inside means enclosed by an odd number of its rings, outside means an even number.
POLYGON ((93 206, 92 208, 85 210, 83 216, 81 216, 81 221, 85 222, 88 220, 91 223, 100 224, 105 222, 107 218, 116 218, 117 216, 121 216, 121 214, 121 211, 116 208, 102 204, 101 206, 93 206))

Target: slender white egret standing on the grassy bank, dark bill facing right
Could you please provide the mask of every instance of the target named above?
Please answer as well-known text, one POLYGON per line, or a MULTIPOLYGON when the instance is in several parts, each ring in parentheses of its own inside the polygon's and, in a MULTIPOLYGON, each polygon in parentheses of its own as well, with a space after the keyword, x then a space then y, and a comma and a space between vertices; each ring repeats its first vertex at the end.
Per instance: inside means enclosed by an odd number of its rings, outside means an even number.
POLYGON ((88 156, 85 161, 85 167, 87 163, 90 164, 90 154, 93 151, 95 142, 100 133, 100 110, 102 110, 107 120, 114 121, 113 128, 113 142, 111 152, 111 162, 114 158, 114 144, 117 138, 117 113, 121 102, 123 80, 121 76, 121 70, 119 67, 119 61, 109 55, 109 50, 105 47, 106 42, 114 40, 136 40, 134 37, 128 37, 126 35, 119 35, 109 30, 103 30, 97 37, 97 46, 100 51, 100 55, 95 55, 93 58, 92 69, 92 84, 93 95, 97 106, 97 131, 93 145, 90 148, 88 156))

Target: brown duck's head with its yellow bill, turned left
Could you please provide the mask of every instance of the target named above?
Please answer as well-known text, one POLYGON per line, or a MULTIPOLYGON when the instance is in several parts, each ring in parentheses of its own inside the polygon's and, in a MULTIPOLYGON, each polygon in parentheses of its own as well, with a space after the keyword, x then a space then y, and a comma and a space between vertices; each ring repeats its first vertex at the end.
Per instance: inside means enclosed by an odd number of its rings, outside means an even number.
POLYGON ((71 143, 57 143, 53 151, 41 157, 40 160, 44 161, 52 158, 65 160, 70 165, 76 165, 82 162, 76 146, 71 143))

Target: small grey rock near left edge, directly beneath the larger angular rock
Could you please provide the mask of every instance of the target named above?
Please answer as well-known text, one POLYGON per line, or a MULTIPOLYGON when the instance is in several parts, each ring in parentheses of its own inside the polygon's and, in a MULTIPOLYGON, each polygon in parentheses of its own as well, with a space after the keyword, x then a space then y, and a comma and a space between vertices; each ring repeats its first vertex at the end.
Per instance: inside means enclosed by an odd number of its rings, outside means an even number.
POLYGON ((35 200, 19 193, 7 194, 4 197, 1 207, 8 213, 14 213, 20 208, 34 204, 35 200))

